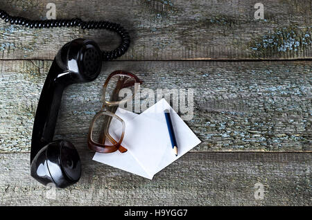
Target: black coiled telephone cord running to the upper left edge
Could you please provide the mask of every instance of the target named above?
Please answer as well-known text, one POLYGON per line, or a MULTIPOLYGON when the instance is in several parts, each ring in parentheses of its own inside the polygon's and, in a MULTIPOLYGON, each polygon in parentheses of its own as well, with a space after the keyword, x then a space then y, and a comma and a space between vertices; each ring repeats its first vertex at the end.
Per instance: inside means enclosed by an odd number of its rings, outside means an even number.
POLYGON ((130 36, 125 28, 119 24, 109 21, 83 21, 80 18, 76 19, 51 19, 51 20, 30 20, 24 17, 14 17, 8 15, 4 10, 0 10, 0 18, 10 24, 17 24, 29 28, 60 28, 60 27, 80 27, 83 29, 107 29, 114 31, 121 37, 121 44, 114 51, 102 51, 102 59, 110 60, 121 57, 130 46, 130 36))

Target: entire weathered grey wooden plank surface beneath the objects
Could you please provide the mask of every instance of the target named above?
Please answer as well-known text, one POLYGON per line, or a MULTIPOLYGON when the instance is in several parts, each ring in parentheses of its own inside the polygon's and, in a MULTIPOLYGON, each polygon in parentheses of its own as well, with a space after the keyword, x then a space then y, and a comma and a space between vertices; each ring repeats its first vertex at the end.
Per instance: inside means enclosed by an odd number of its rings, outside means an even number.
MULTIPOLYGON (((46 19, 51 1, 0 0, 11 15, 46 19)), ((312 1, 64 1, 57 18, 127 28, 128 53, 92 83, 64 91, 55 138, 73 142, 83 176, 66 190, 30 176, 37 101, 58 49, 77 37, 114 48, 105 30, 37 30, 0 21, 0 205, 311 205, 312 1), (263 61, 265 60, 265 61, 263 61), (89 122, 116 69, 149 89, 193 89, 187 125, 202 143, 149 181, 92 161, 89 122), (178 171, 177 171, 178 170, 178 171), (254 197, 255 184, 264 187, 254 197)))

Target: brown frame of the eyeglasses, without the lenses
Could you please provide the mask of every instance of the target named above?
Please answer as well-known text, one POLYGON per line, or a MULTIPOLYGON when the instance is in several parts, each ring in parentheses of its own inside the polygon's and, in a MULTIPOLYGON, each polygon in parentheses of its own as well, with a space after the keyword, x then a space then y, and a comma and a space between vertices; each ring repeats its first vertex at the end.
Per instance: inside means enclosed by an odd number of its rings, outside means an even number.
POLYGON ((123 104, 123 103, 127 102, 128 100, 130 100, 130 98, 133 98, 133 96, 135 95, 135 93, 137 91, 135 89, 135 92, 132 94, 131 97, 125 98, 121 101, 114 101, 114 98, 116 98, 116 95, 117 96, 119 95, 119 91, 121 89, 127 88, 129 86, 135 86, 136 83, 142 84, 143 81, 139 80, 139 78, 135 74, 129 73, 127 71, 114 71, 107 77, 107 80, 105 81, 105 84, 103 85, 103 93, 102 93, 103 106, 101 108, 101 111, 98 111, 98 113, 96 113, 96 115, 92 119, 90 126, 89 126, 89 134, 88 134, 88 140, 87 140, 89 149, 92 149, 93 151, 98 152, 98 153, 112 153, 112 152, 116 152, 116 150, 119 150, 119 152, 121 152, 121 153, 127 152, 127 149, 125 149, 125 147, 121 146, 121 143, 123 141, 123 136, 125 135, 125 122, 119 116, 116 116, 116 114, 114 114, 113 112, 116 111, 119 104, 123 104), (117 83, 116 88, 114 89, 114 91, 112 93, 111 100, 107 101, 107 100, 105 100, 105 93, 106 93, 106 89, 107 89, 107 84, 110 82, 110 79, 115 75, 132 77, 135 80, 135 82, 128 82, 128 83, 121 84, 121 85, 119 85, 117 83), (119 88, 119 86, 120 86, 120 88, 119 88), (108 109, 110 109, 110 111, 106 111, 105 107, 108 107, 108 109), (102 116, 102 115, 110 116, 110 119, 107 121, 105 120, 105 122, 104 122, 105 125, 103 125, 103 127, 102 127, 101 137, 100 137, 100 141, 99 141, 101 143, 96 143, 96 142, 94 142, 94 140, 92 140, 92 131, 93 131, 93 127, 94 127, 94 122, 96 121, 96 119, 99 116, 102 116), (110 136, 110 134, 108 134, 108 128, 110 127, 110 122, 111 122, 112 118, 116 118, 117 120, 121 121, 122 126, 123 126, 121 137, 120 137, 120 140, 118 142, 116 140, 114 140, 114 138, 112 138, 112 136, 110 136), (105 145, 105 138, 108 138, 110 140, 110 142, 112 143, 112 145, 105 145))

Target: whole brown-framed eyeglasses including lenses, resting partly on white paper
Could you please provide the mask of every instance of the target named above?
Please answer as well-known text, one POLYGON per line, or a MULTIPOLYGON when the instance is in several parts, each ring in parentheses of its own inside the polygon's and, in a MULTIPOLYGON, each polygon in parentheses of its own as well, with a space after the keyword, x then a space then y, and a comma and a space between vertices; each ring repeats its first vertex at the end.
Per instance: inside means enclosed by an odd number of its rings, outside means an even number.
POLYGON ((116 116, 120 104, 128 103, 137 93, 142 81, 132 73, 114 71, 103 85, 101 111, 98 111, 89 127, 88 147, 98 153, 127 152, 121 146, 125 135, 125 122, 116 116), (121 98, 120 95, 124 98, 121 98))

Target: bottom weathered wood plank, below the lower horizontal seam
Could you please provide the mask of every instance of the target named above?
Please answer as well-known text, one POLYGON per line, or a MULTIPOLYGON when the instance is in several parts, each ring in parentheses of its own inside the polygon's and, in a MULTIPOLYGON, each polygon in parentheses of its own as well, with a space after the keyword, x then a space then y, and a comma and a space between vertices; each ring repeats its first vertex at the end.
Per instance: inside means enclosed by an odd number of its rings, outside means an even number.
POLYGON ((309 153, 191 152, 152 181, 80 156, 80 181, 53 197, 29 154, 0 154, 0 205, 311 205, 309 153))

